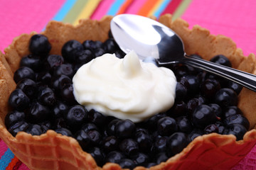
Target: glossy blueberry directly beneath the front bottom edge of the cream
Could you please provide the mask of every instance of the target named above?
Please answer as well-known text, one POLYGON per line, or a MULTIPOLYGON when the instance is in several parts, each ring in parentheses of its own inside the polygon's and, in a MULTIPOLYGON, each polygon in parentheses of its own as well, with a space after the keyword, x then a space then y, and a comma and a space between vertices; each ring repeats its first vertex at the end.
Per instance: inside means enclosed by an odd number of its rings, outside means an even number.
POLYGON ((119 120, 114 127, 114 132, 117 137, 128 138, 133 137, 136 130, 136 125, 131 120, 119 120))

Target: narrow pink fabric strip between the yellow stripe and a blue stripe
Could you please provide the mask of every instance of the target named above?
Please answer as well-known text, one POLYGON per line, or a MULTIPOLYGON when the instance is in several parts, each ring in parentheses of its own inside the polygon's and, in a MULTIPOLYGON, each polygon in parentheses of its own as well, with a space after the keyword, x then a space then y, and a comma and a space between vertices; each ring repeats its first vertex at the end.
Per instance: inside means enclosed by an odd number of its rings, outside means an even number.
POLYGON ((99 6, 97 7, 95 13, 92 14, 91 18, 100 20, 100 18, 102 18, 102 16, 105 16, 105 13, 107 13, 108 9, 110 8, 110 6, 112 5, 113 2, 114 2, 114 0, 101 1, 99 6))

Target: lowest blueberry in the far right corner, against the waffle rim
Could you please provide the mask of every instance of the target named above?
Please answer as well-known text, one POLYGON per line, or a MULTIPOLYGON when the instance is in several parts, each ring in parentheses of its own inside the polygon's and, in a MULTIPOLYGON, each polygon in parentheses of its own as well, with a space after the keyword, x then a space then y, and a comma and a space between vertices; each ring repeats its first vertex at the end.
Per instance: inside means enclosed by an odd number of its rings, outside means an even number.
POLYGON ((231 124, 224 130, 223 135, 235 135, 237 140, 242 140, 246 132, 247 130, 243 125, 231 124))

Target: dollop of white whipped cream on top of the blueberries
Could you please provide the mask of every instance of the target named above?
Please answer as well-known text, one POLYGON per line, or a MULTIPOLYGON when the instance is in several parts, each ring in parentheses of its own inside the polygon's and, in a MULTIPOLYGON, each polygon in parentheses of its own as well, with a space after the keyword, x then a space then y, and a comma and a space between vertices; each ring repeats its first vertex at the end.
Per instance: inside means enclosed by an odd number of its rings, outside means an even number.
POLYGON ((82 65, 73 77, 76 101, 88 111, 138 123, 174 105, 176 77, 171 69, 105 54, 82 65))

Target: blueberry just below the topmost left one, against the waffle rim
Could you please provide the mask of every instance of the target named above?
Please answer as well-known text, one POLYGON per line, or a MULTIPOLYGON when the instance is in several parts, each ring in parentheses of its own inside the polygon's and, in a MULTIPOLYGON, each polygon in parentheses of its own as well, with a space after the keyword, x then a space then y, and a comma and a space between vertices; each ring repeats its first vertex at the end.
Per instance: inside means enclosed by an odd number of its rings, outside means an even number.
POLYGON ((41 58, 38 55, 26 55, 21 58, 20 67, 29 67, 34 72, 42 69, 41 58))

